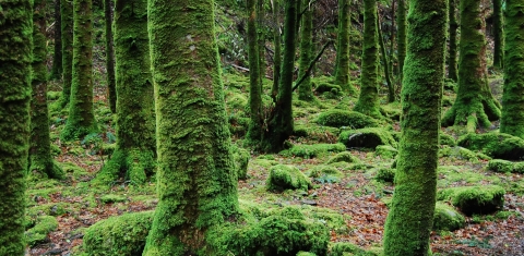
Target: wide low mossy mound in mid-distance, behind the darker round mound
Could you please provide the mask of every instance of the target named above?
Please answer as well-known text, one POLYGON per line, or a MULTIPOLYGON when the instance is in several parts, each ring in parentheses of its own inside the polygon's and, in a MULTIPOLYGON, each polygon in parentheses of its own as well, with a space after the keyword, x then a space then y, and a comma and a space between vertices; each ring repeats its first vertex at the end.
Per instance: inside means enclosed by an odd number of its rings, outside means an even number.
POLYGON ((347 126, 350 129, 377 127, 380 125, 376 119, 364 113, 338 109, 321 113, 315 122, 331 127, 347 126))

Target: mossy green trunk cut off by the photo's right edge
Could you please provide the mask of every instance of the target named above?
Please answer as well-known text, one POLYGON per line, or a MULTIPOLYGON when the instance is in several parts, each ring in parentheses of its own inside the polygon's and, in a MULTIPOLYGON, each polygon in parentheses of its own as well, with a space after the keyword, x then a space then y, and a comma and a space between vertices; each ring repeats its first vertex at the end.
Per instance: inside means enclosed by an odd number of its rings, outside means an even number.
POLYGON ((504 94, 500 132, 524 138, 524 0, 505 1, 504 94))

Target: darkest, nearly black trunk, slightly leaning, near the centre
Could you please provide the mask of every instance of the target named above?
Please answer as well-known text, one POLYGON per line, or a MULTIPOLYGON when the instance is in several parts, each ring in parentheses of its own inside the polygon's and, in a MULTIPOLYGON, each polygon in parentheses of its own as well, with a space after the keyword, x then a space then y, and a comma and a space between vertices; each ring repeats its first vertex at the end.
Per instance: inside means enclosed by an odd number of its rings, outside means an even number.
POLYGON ((294 0, 286 0, 286 17, 284 21, 284 58, 282 61, 278 95, 275 108, 270 113, 267 129, 262 142, 265 151, 279 151, 284 148, 284 142, 293 134, 293 71, 295 69, 296 51, 296 17, 297 4, 294 0))

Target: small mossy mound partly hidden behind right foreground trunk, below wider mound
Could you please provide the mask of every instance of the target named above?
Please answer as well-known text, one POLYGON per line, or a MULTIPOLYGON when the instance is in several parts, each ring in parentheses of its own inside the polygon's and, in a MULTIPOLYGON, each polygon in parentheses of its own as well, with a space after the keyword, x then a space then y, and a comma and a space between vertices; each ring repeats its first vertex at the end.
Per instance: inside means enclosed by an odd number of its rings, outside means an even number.
POLYGON ((437 202, 433 215, 433 230, 455 231, 466 225, 466 219, 453 207, 437 202))

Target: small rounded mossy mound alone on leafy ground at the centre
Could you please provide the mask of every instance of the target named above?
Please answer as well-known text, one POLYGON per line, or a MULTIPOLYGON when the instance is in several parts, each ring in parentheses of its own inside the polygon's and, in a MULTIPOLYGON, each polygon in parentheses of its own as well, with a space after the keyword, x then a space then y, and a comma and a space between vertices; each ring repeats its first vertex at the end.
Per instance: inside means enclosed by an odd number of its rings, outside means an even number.
POLYGON ((311 181, 294 166, 277 164, 270 169, 265 181, 267 191, 303 190, 312 187, 311 181))

